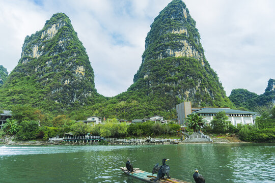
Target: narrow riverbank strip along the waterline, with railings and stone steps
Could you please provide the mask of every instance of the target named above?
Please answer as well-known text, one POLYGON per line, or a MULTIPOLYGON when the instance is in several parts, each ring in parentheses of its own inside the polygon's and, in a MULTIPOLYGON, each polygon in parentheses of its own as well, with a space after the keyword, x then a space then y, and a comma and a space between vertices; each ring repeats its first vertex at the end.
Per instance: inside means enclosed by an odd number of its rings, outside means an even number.
MULTIPOLYGON (((245 143, 244 141, 241 141, 236 135, 213 135, 211 136, 213 139, 213 142, 207 141, 206 139, 189 139, 189 140, 182 140, 178 141, 175 144, 186 144, 186 143, 245 143)), ((122 145, 124 143, 110 143, 110 142, 93 142, 93 143, 66 143, 64 141, 43 141, 43 140, 30 140, 30 141, 18 141, 14 136, 6 136, 3 139, 0 139, 0 145, 85 145, 85 144, 117 144, 122 145)), ((135 144, 135 143, 133 143, 135 144)), ((138 144, 171 144, 169 142, 144 142, 144 143, 138 143, 138 144)))

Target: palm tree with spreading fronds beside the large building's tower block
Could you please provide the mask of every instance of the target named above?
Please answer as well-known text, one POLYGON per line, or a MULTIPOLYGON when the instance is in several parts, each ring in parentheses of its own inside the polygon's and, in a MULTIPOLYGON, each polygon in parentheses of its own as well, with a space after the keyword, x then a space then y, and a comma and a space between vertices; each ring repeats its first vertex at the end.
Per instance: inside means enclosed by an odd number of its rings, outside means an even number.
POLYGON ((193 129, 194 132, 198 132, 201 127, 205 126, 205 120, 203 116, 199 116, 197 113, 189 114, 185 120, 187 127, 193 129))

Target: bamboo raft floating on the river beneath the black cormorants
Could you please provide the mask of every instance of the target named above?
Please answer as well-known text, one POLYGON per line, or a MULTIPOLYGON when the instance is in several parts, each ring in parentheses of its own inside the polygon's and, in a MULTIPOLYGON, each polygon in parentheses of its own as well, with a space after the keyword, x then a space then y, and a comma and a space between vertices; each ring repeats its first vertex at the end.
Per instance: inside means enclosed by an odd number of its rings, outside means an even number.
POLYGON ((156 178, 156 176, 152 176, 152 173, 140 170, 139 168, 134 168, 133 172, 129 172, 127 170, 126 167, 120 167, 120 169, 126 173, 129 176, 138 178, 140 180, 146 181, 146 182, 151 182, 151 183, 163 183, 163 182, 167 182, 167 183, 190 183, 184 180, 179 180, 176 178, 164 178, 164 179, 160 179, 154 182, 154 179, 156 178))

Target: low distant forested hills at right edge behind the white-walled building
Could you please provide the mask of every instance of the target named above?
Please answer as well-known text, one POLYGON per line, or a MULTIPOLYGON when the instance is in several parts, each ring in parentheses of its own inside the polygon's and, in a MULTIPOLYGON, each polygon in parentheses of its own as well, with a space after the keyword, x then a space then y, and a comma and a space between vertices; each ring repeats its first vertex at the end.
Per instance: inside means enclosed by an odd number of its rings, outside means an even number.
POLYGON ((275 104, 275 79, 269 79, 265 92, 261 95, 249 92, 246 89, 233 89, 229 99, 236 107, 248 110, 263 111, 271 109, 275 104))

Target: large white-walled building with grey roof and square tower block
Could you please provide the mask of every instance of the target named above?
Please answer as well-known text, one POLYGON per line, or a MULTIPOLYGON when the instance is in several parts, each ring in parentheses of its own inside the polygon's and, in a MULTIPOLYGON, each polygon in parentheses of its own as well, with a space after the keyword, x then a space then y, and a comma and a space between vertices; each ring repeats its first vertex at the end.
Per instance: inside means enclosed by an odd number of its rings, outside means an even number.
POLYGON ((177 117, 180 125, 184 125, 185 118, 191 113, 197 113, 207 121, 206 124, 210 124, 211 120, 218 112, 224 111, 228 116, 228 120, 234 126, 240 125, 255 125, 255 116, 257 112, 234 110, 230 108, 191 108, 191 102, 183 102, 176 106, 177 117))

